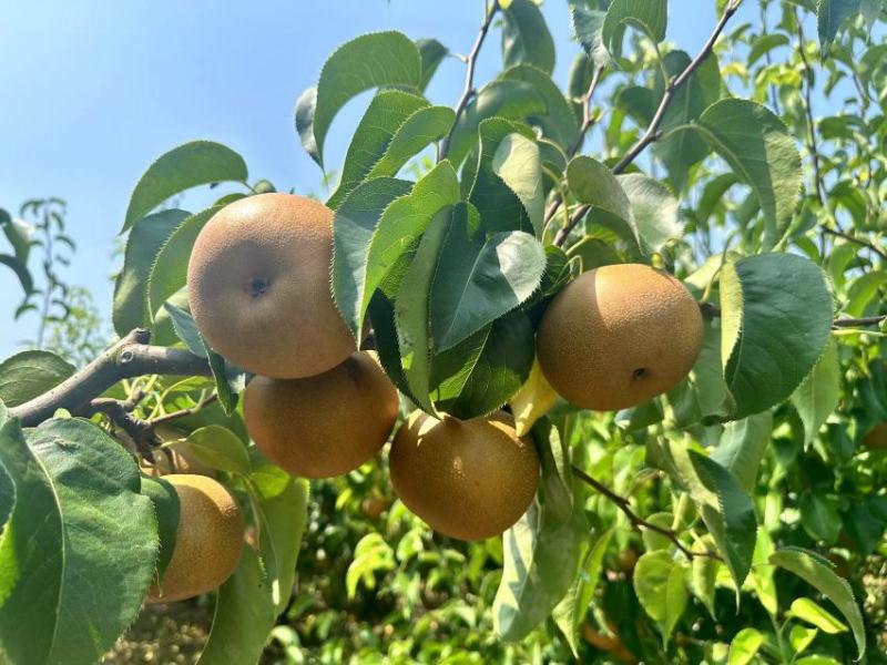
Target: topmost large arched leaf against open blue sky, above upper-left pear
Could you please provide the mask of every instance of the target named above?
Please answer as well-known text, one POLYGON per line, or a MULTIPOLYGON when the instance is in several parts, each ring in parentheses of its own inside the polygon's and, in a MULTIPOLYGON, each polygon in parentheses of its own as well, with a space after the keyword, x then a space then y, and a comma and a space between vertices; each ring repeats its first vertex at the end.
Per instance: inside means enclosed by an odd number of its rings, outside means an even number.
POLYGON ((418 89, 422 82, 419 49, 400 32, 364 34, 339 47, 324 63, 317 88, 296 104, 302 145, 324 167, 324 140, 336 113, 355 95, 384 85, 418 89))

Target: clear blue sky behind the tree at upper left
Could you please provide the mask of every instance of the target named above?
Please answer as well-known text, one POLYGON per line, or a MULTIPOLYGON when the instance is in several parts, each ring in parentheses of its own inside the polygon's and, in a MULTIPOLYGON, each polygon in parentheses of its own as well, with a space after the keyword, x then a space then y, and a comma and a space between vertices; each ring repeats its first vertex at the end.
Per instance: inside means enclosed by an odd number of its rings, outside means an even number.
MULTIPOLYGON (((693 6, 692 20, 670 21, 669 39, 694 52, 714 25, 715 3, 670 2, 684 3, 693 6)), ((567 1, 547 0, 543 12, 563 85, 579 51, 567 1)), ((62 275, 88 287, 110 319, 115 237, 133 185, 156 156, 210 139, 239 152, 252 181, 319 192, 320 172, 298 143, 293 108, 336 47, 400 30, 465 53, 481 14, 481 0, 0 0, 0 207, 14 215, 27 198, 68 201, 78 252, 62 275)), ((499 39, 497 30, 487 43, 479 82, 497 71, 499 39)), ((463 66, 445 61, 428 90, 435 103, 455 103, 463 66)), ((340 162, 366 96, 336 117, 328 165, 340 162)), ((203 203, 191 195, 182 207, 203 203)), ((0 358, 34 335, 32 314, 11 324, 20 296, 0 266, 0 358)))

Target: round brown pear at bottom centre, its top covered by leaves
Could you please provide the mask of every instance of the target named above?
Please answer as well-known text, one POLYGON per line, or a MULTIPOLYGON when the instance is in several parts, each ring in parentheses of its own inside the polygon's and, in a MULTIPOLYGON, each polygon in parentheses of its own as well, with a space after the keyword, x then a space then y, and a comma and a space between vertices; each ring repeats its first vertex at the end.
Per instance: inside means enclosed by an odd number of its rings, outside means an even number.
POLYGON ((414 411, 389 454, 391 483, 435 531, 466 541, 499 535, 527 511, 539 485, 539 457, 511 417, 438 420, 414 411))

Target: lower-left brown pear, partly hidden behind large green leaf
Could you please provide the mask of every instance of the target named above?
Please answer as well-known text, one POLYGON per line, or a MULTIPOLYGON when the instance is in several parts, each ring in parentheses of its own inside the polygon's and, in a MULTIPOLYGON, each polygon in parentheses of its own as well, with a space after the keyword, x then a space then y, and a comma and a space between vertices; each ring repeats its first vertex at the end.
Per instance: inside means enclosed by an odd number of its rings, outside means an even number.
POLYGON ((147 603, 172 603, 221 586, 241 559, 244 522, 234 497, 205 475, 173 474, 164 480, 179 494, 175 549, 160 587, 151 585, 147 603))

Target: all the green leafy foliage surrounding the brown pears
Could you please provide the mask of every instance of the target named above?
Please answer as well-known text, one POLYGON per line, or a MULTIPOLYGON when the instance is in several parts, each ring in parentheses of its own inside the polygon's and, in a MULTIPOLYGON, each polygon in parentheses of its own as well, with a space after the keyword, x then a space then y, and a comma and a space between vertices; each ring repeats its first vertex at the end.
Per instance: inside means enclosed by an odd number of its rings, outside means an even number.
MULTIPOLYGON (((573 0, 565 94, 541 12, 511 0, 488 3, 455 111, 424 94, 446 48, 396 32, 340 47, 298 100, 298 136, 324 166, 338 110, 376 91, 327 200, 332 288, 355 334, 373 328, 405 408, 482 416, 529 380, 514 410, 546 411, 533 408, 551 402, 531 374, 534 330, 582 272, 646 263, 700 300, 703 349, 676 388, 619 413, 561 400, 536 422, 540 490, 501 539, 430 533, 391 494, 384 459, 308 499, 261 458, 237 407, 245 377, 205 347, 184 288, 212 214, 274 186, 249 184, 245 161, 211 142, 149 167, 123 223, 115 329, 150 329, 213 378, 137 377, 104 397, 174 421, 257 534, 217 594, 203 661, 255 661, 271 635, 265 657, 288 663, 884 662, 887 452, 869 433, 887 421, 887 68, 871 38, 885 8, 762 0, 756 22, 735 24, 738 0, 716 4, 711 40, 689 54, 664 41, 692 11, 679 3, 573 0), (476 84, 497 18, 503 71, 476 84), (223 181, 236 190, 206 211, 156 212, 223 181)), ((0 365, 12 408, 0 407, 0 653, 28 663, 62 647, 71 663, 95 659, 174 538, 133 459, 95 427, 125 439, 125 419, 59 413, 22 433, 16 409, 69 368, 52 355, 0 365), (102 482, 78 498, 100 449, 102 482), (133 531, 125 569, 108 564, 118 503, 133 531), (50 562, 52 593, 33 591, 39 556, 69 550, 50 562), (84 601, 82 624, 67 625, 61 591, 99 572, 123 591, 84 601), (26 606, 34 623, 9 630, 26 606), (57 628, 45 653, 21 655, 57 628)))

